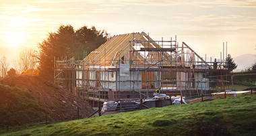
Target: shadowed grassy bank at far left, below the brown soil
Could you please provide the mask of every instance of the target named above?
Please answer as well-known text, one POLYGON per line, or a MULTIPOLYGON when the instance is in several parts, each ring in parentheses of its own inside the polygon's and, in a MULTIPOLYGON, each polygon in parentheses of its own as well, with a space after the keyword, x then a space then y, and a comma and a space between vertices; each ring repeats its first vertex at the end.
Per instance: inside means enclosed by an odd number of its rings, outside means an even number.
POLYGON ((24 127, 45 120, 44 109, 27 89, 0 84, 0 133, 9 126, 24 127))

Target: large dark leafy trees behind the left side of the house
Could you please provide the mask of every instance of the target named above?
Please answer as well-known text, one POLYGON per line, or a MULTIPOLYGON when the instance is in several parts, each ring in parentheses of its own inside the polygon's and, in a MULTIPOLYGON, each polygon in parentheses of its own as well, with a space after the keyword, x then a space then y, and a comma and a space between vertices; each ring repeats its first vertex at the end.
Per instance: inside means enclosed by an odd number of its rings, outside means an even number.
POLYGON ((43 40, 38 48, 40 76, 53 81, 54 56, 61 58, 83 58, 84 51, 88 53, 104 44, 108 33, 104 30, 96 30, 94 26, 74 29, 71 25, 61 25, 56 32, 49 33, 48 38, 43 40))

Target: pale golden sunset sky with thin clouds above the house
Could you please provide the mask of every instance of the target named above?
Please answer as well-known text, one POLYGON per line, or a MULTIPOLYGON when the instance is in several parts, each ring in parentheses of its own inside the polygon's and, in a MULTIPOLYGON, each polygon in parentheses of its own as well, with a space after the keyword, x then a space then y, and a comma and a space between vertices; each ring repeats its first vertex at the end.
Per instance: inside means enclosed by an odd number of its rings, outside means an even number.
POLYGON ((0 56, 17 58, 61 24, 94 25, 111 36, 144 31, 154 40, 170 40, 177 35, 179 45, 185 42, 207 58, 220 58, 223 42, 232 58, 256 54, 256 0, 0 0, 0 56))

